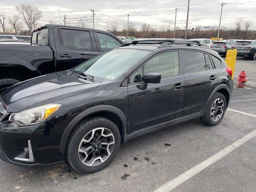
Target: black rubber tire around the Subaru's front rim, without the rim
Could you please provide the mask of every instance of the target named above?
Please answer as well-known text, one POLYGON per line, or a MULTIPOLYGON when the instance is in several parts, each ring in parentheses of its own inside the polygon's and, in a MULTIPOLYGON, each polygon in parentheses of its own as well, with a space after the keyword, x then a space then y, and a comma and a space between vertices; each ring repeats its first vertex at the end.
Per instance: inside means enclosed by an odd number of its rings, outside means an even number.
POLYGON ((71 132, 66 147, 66 159, 68 163, 78 172, 93 173, 108 166, 118 154, 121 137, 116 124, 105 117, 92 117, 82 120, 71 132), (78 156, 78 148, 82 139, 95 128, 107 128, 114 136, 114 148, 104 162, 96 166, 83 164, 78 156))

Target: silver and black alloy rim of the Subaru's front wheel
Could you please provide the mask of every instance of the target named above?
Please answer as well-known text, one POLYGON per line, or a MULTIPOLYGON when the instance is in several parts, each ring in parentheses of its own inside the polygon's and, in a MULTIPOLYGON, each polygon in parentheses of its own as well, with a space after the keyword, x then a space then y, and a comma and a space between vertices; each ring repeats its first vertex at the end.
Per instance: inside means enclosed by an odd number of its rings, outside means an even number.
POLYGON ((97 166, 110 156, 114 144, 114 135, 110 130, 95 128, 86 134, 79 144, 80 161, 86 166, 97 166))

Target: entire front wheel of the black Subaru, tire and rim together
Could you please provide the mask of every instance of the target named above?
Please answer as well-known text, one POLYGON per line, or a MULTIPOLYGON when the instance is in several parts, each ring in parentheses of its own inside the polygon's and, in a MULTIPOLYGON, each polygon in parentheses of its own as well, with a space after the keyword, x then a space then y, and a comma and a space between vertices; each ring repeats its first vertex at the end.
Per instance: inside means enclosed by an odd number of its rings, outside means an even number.
POLYGON ((120 147, 120 132, 105 117, 82 120, 71 132, 66 159, 78 172, 92 173, 108 166, 120 147))

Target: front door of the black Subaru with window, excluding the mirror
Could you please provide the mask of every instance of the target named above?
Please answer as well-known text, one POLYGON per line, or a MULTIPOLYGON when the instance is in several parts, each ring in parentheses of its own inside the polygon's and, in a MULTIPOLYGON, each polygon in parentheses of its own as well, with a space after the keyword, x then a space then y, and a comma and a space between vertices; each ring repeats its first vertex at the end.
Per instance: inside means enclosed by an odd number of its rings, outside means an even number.
POLYGON ((180 117, 184 84, 179 51, 160 53, 131 74, 128 94, 132 131, 180 117), (146 90, 141 90, 138 86, 147 72, 160 73, 161 82, 148 83, 146 90))

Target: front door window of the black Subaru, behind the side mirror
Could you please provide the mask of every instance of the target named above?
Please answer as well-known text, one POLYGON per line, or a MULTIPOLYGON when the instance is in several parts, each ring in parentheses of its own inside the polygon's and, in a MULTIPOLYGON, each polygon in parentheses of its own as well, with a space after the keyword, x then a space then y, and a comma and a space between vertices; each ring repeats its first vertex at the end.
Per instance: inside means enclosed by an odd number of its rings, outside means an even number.
POLYGON ((150 59, 142 68, 130 76, 130 83, 141 82, 143 75, 147 72, 159 73, 161 78, 179 74, 178 51, 165 52, 150 59))

